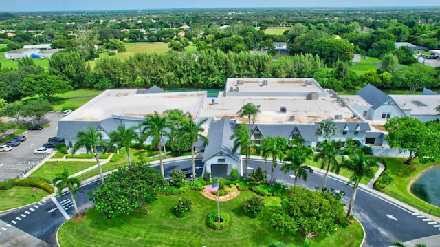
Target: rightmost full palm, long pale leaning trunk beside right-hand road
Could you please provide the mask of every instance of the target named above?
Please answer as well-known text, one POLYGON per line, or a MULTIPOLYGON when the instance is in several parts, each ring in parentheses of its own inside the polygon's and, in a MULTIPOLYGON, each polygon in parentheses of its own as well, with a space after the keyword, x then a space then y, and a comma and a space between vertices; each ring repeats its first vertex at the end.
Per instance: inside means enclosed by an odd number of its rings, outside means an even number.
POLYGON ((349 159, 344 160, 342 164, 343 167, 353 173, 348 182, 348 184, 353 183, 353 194, 351 195, 349 209, 347 210, 347 218, 350 217, 351 209, 353 208, 353 204, 355 204, 356 192, 358 191, 360 180, 373 175, 373 166, 375 163, 375 160, 366 156, 361 149, 355 149, 353 154, 349 155, 349 159))

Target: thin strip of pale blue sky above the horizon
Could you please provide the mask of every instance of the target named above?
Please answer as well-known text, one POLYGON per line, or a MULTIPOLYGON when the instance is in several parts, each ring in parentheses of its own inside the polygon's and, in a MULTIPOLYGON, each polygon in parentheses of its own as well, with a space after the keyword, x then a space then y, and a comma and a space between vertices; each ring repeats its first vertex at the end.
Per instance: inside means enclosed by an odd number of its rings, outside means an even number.
POLYGON ((0 12, 245 7, 440 6, 439 0, 1 0, 0 12))

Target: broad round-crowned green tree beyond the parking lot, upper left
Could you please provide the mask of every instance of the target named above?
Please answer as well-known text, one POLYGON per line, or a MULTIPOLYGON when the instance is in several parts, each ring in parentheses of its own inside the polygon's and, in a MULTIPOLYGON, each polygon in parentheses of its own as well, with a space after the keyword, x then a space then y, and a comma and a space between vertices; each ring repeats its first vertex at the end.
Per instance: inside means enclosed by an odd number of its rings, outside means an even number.
POLYGON ((23 94, 27 96, 41 95, 52 103, 51 96, 63 94, 70 89, 69 83, 61 78, 45 72, 41 74, 30 74, 21 83, 23 94))

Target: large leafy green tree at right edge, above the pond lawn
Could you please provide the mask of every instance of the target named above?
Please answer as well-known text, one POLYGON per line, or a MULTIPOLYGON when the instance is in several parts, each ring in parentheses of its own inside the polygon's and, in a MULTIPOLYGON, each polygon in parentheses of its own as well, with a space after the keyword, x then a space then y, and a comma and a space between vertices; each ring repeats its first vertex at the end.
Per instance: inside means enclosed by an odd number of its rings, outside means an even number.
POLYGON ((411 160, 417 157, 422 164, 434 161, 440 158, 440 131, 436 127, 438 123, 431 124, 428 127, 428 123, 407 116, 390 118, 384 125, 388 131, 385 139, 390 147, 410 152, 406 164, 411 164, 411 160))

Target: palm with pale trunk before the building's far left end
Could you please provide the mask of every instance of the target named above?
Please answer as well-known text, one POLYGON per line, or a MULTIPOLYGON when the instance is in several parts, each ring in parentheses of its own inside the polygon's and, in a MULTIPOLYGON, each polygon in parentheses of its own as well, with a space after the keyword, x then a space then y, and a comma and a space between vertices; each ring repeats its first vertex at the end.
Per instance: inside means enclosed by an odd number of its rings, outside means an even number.
POLYGON ((89 131, 79 131, 76 134, 76 143, 72 149, 72 153, 75 153, 80 147, 85 147, 87 151, 91 151, 98 164, 99 174, 101 176, 101 182, 104 183, 104 175, 102 175, 101 163, 99 161, 98 151, 96 146, 107 147, 107 142, 102 140, 102 133, 96 132, 94 127, 89 126, 89 131))

